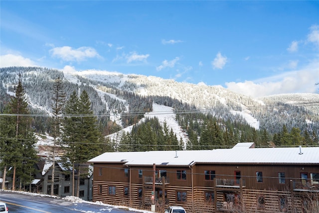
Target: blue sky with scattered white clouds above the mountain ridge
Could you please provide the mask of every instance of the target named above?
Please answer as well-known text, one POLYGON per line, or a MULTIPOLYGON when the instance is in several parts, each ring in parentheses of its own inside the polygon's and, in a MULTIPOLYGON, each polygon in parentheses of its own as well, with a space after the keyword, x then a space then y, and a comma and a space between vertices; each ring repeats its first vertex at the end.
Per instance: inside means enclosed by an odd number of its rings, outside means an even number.
POLYGON ((319 93, 319 1, 0 1, 0 66, 319 93))

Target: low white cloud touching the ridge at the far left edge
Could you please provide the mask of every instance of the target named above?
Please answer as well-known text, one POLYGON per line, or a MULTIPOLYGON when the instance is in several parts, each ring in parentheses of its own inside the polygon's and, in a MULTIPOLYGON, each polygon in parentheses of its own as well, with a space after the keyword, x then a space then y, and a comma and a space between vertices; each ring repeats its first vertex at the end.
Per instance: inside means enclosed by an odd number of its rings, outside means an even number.
POLYGON ((35 66, 35 62, 21 55, 6 54, 0 56, 0 67, 35 66))

